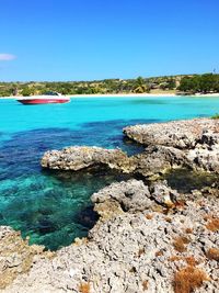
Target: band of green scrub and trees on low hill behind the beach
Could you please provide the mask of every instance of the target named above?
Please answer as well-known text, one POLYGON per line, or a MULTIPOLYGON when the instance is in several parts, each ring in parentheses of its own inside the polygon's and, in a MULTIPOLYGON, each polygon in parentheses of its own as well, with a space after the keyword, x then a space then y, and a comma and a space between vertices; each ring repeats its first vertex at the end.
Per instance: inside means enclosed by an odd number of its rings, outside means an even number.
POLYGON ((136 79, 104 79, 68 82, 0 82, 0 97, 43 94, 46 91, 62 94, 116 93, 209 93, 219 92, 219 75, 164 76, 136 79))

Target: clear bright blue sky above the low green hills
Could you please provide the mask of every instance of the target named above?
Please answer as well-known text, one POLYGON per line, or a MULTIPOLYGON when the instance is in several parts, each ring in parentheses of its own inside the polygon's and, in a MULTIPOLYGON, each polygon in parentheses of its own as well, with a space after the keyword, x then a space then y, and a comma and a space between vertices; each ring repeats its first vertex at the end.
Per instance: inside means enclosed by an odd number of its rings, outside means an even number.
POLYGON ((218 15, 218 0, 0 0, 0 80, 219 71, 218 15))

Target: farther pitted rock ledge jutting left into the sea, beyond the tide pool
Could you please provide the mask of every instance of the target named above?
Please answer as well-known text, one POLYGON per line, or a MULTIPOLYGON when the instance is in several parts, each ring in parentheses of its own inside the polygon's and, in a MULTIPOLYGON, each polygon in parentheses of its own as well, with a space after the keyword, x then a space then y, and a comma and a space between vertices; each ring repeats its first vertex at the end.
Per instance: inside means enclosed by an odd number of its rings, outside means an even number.
POLYGON ((68 147, 47 151, 42 167, 78 171, 104 166, 148 178, 181 167, 219 173, 219 122, 216 120, 136 125, 124 128, 124 133, 145 144, 145 151, 128 157, 120 149, 68 147))

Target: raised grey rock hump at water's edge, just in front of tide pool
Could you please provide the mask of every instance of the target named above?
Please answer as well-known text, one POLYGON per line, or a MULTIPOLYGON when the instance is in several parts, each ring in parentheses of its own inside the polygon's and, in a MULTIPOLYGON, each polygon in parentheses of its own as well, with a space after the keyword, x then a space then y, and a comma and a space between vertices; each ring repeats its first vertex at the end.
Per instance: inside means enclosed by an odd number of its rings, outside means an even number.
MULTIPOLYGON (((181 195, 177 191, 168 187, 166 181, 158 181, 150 187, 141 180, 128 180, 127 182, 113 183, 91 196, 95 210, 100 213, 103 203, 119 205, 120 212, 136 213, 146 210, 157 210, 158 205, 168 207, 174 205, 181 195)), ((107 209, 108 210, 108 209, 107 209)), ((111 211, 108 211, 111 213, 111 211)), ((102 216, 103 217, 103 216, 102 216)))

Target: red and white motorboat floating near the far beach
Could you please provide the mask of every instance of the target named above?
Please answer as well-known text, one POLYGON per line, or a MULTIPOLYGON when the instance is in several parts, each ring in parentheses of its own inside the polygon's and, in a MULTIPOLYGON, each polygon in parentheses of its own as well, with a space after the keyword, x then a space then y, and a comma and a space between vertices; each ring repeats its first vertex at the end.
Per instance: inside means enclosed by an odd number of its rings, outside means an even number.
POLYGON ((65 97, 55 91, 48 91, 42 95, 22 97, 16 99, 22 104, 54 104, 54 103, 68 103, 70 98, 65 97))

